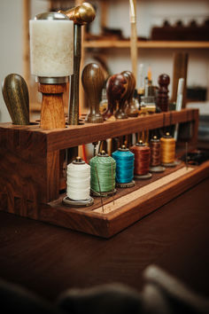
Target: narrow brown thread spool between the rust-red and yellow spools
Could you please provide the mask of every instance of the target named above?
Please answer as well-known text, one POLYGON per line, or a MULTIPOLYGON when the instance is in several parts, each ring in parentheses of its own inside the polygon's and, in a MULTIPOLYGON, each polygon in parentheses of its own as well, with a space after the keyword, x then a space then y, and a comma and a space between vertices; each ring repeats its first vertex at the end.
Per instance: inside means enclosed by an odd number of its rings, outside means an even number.
POLYGON ((161 166, 161 156, 160 156, 160 140, 158 137, 154 136, 151 138, 151 172, 163 172, 165 168, 161 166))

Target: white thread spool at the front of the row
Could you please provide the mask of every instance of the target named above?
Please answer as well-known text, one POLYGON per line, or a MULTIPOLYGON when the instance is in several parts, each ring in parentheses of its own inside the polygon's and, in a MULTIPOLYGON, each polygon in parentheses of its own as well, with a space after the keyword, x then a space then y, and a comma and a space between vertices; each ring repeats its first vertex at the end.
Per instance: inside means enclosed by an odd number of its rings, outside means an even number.
POLYGON ((89 206, 93 204, 90 197, 90 166, 81 157, 67 165, 66 198, 63 202, 71 206, 89 206))

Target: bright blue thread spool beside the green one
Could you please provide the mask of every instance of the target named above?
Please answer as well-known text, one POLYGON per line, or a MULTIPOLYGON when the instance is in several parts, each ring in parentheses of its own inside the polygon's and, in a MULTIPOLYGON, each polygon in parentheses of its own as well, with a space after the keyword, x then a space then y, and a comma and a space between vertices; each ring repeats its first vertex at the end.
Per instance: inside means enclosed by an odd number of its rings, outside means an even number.
POLYGON ((121 148, 112 153, 112 158, 116 161, 116 185, 120 187, 134 186, 135 154, 130 152, 125 145, 122 145, 121 148))

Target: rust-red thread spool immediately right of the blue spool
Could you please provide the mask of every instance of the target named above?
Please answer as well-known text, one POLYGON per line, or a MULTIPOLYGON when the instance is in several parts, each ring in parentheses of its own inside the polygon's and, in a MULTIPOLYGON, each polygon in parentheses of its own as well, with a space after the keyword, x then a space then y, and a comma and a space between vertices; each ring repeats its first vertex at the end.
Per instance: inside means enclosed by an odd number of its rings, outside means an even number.
POLYGON ((130 148, 131 152, 135 154, 135 178, 146 179, 151 177, 150 169, 150 158, 151 149, 149 146, 143 144, 140 140, 135 146, 130 148))

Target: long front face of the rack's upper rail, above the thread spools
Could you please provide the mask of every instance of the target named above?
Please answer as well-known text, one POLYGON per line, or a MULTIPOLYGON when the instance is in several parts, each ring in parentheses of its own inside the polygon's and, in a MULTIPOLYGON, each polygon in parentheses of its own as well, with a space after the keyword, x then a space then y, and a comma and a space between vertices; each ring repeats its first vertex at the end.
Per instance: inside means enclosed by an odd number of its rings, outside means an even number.
POLYGON ((69 126, 63 131, 48 133, 48 150, 89 144, 106 138, 128 135, 142 130, 158 129, 176 122, 188 122, 194 119, 197 109, 184 109, 181 112, 151 114, 137 118, 128 118, 116 122, 89 123, 80 126, 69 126))

